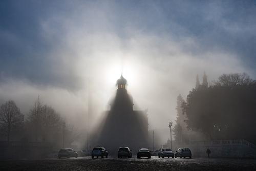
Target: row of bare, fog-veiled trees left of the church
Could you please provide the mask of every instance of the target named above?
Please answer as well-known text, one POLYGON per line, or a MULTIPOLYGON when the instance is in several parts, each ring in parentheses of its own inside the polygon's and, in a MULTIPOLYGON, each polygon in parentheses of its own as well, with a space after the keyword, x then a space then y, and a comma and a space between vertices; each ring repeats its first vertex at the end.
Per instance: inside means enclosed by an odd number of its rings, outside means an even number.
POLYGON ((65 143, 74 140, 74 126, 66 125, 65 119, 52 106, 43 104, 40 98, 29 110, 26 119, 13 100, 0 107, 0 134, 9 143, 15 141, 52 142, 62 145, 63 129, 65 143), (64 127, 65 126, 65 127, 64 127))

